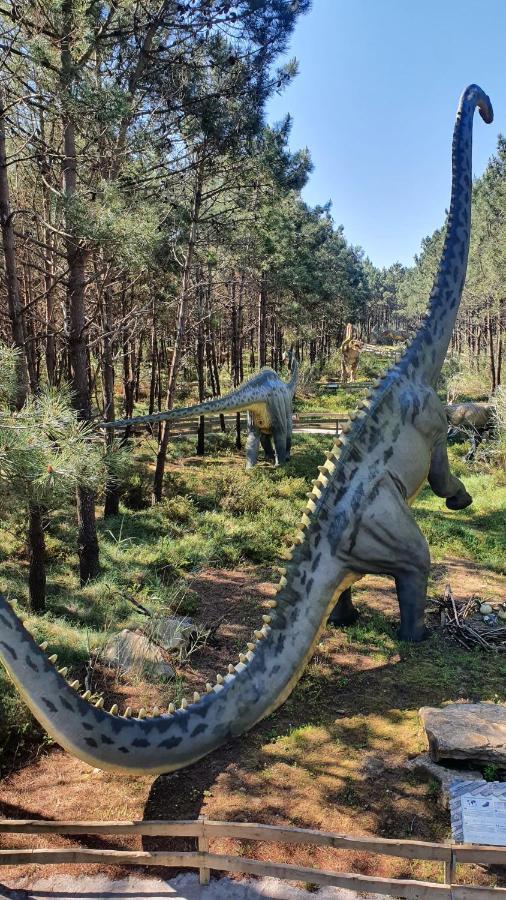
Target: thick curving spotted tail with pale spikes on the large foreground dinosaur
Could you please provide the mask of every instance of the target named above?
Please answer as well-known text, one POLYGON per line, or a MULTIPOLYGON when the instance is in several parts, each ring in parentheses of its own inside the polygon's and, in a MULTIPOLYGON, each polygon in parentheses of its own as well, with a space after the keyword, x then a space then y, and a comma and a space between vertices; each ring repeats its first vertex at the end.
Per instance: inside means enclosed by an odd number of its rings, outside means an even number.
MULTIPOLYGON (((319 513, 335 470, 339 443, 310 494, 301 531, 275 599, 267 601, 262 626, 239 660, 218 674, 205 693, 181 708, 148 716, 123 715, 93 705, 90 692, 58 671, 56 658, 38 647, 7 601, 0 596, 0 660, 47 732, 69 753, 93 766, 129 774, 170 772, 205 756, 252 728, 280 706, 300 679, 340 593, 356 576, 343 568, 321 541, 319 513), (316 552, 316 547, 318 551, 316 552), (316 563, 315 563, 316 559, 316 563)), ((325 513, 327 515, 327 513, 325 513)), ((159 711, 156 710, 156 713, 159 711)))

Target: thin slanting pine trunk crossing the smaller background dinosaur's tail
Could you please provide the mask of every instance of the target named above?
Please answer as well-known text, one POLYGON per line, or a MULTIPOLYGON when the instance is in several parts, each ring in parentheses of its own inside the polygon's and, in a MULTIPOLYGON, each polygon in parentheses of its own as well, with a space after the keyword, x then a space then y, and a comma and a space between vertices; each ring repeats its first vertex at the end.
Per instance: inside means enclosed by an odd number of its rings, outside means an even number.
MULTIPOLYGON (((186 257, 183 267, 183 277, 181 283, 181 294, 179 297, 176 337, 174 340, 174 349, 172 353, 172 361, 169 371, 169 381, 167 385, 166 408, 172 409, 174 405, 174 396, 176 393, 176 381, 181 366, 181 358, 183 353, 184 339, 186 336, 186 321, 188 317, 188 303, 190 297, 190 276, 193 263, 193 255, 195 251, 195 240, 197 237, 197 228, 200 215, 200 207, 202 205, 202 185, 204 182, 205 152, 202 153, 195 172, 195 189, 193 194, 193 206, 190 220, 190 235, 188 238, 188 246, 186 249, 186 257)), ((158 442, 158 453, 156 455, 155 477, 153 480, 153 503, 158 503, 162 499, 163 475, 165 472, 165 460, 167 459, 167 447, 169 443, 169 428, 166 422, 162 423, 160 429, 160 440, 158 442)))

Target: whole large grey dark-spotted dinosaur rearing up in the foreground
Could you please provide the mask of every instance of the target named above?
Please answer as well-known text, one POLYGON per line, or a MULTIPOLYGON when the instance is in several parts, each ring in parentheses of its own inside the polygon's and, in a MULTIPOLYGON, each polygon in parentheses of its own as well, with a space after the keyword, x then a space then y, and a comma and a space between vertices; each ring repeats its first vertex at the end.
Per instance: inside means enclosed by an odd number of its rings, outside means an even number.
POLYGON ((347 589, 365 573, 394 576, 400 636, 423 637, 429 553, 409 502, 427 477, 450 508, 471 501, 448 468, 446 418, 434 385, 466 270, 476 105, 492 121, 488 97, 472 85, 457 116, 451 209, 428 316, 329 452, 269 615, 228 674, 172 715, 112 715, 67 684, 0 601, 0 657, 35 716, 70 753, 103 769, 169 772, 251 728, 289 695, 336 601, 344 592, 340 602, 351 607, 347 589))

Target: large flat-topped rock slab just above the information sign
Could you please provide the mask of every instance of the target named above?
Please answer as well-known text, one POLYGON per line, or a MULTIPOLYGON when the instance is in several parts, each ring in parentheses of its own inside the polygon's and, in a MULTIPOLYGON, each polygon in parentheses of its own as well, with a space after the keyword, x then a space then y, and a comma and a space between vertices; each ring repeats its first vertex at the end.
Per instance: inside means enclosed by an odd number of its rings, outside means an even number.
POLYGON ((463 759, 506 766, 506 707, 497 703, 449 703, 420 710, 435 762, 463 759))

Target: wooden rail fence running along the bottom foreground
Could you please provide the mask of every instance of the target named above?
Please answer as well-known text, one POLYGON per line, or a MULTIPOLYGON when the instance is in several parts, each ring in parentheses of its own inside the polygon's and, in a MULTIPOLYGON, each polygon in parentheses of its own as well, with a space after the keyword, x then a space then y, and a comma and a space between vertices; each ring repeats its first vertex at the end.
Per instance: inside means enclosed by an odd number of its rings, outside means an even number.
POLYGON ((199 870, 201 884, 208 884, 211 870, 240 872, 247 875, 270 875, 287 881, 305 881, 378 894, 403 897, 406 900, 495 900, 506 897, 506 888, 484 888, 455 884, 458 863, 506 865, 506 847, 470 844, 443 844, 374 837, 355 837, 302 828, 258 825, 246 822, 215 822, 205 817, 192 821, 136 822, 53 822, 46 820, 3 819, 0 834, 136 834, 151 837, 194 837, 197 851, 141 851, 90 849, 0 850, 0 865, 54 865, 57 863, 103 863, 106 865, 171 866, 199 870), (209 852, 213 838, 235 838, 243 841, 272 841, 282 844, 310 844, 341 850, 363 850, 404 859, 440 862, 443 881, 415 881, 380 878, 348 872, 294 866, 225 856, 209 852))

